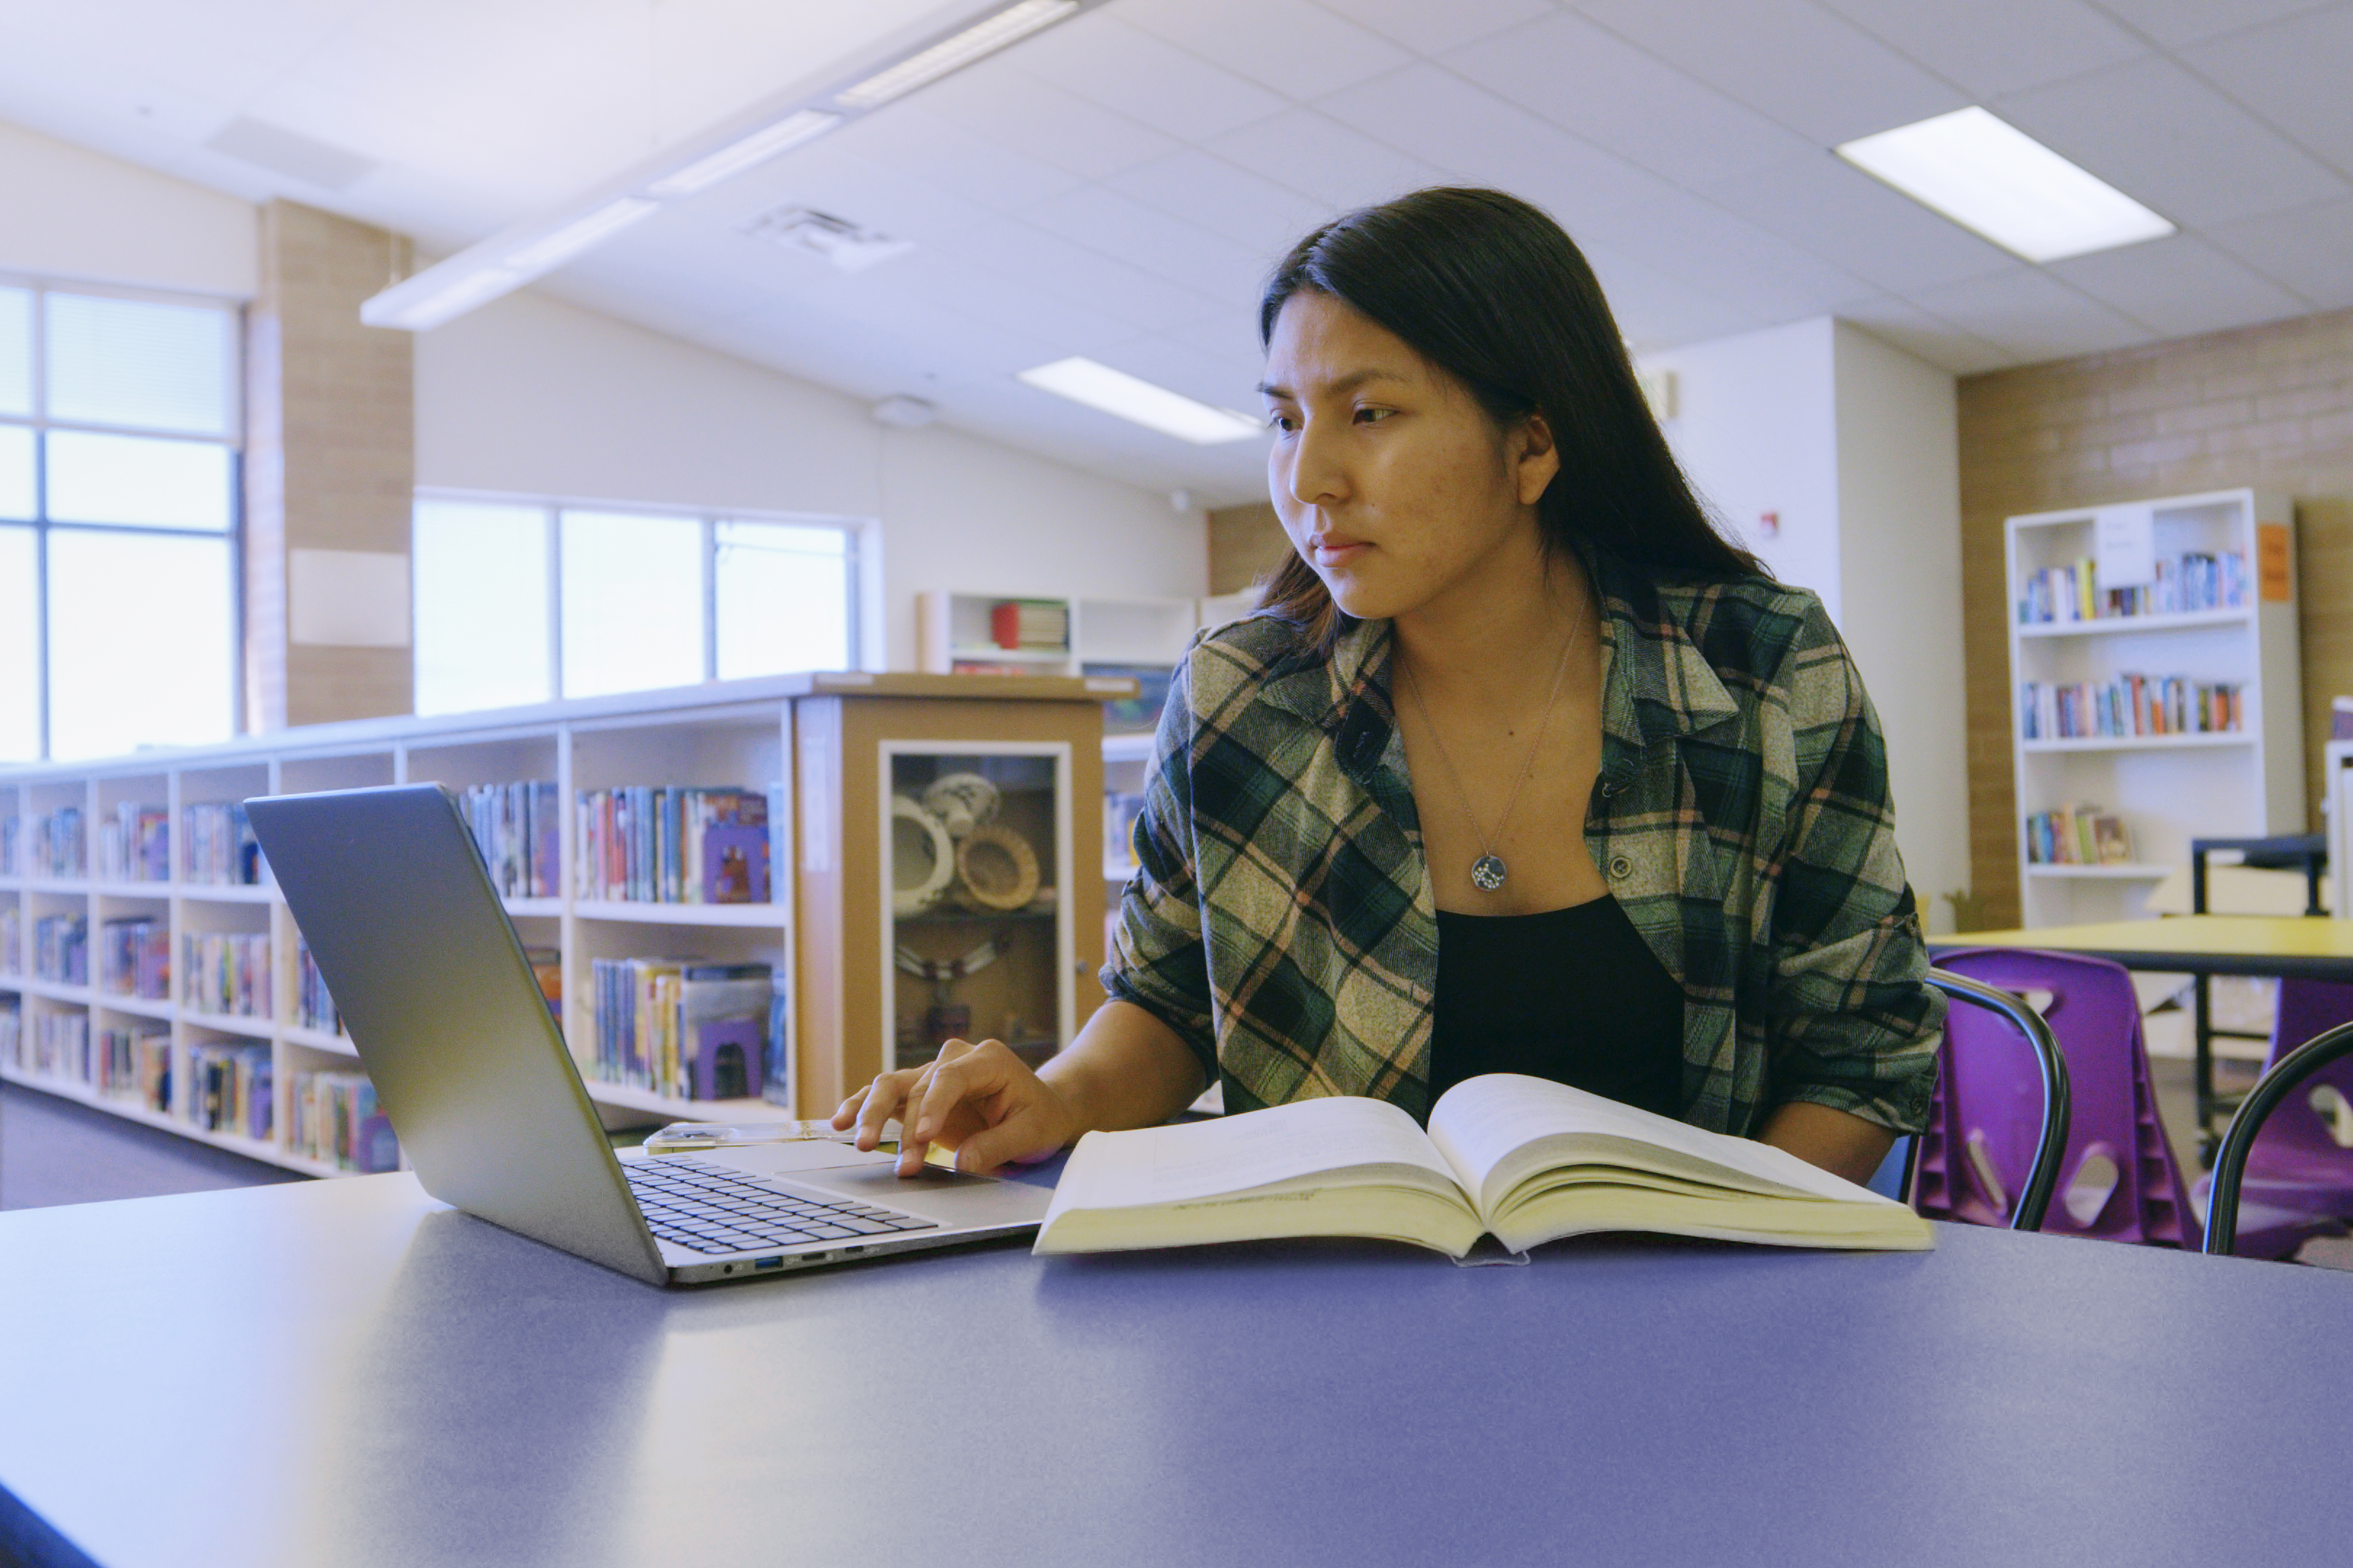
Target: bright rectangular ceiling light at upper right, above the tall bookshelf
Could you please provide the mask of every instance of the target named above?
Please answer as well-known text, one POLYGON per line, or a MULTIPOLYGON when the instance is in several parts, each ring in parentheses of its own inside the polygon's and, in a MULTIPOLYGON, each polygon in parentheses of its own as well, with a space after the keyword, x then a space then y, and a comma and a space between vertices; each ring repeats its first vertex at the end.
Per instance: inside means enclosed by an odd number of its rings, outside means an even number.
POLYGON ((2148 207, 1984 108, 1899 125, 1838 155, 2028 261, 2174 233, 2148 207))

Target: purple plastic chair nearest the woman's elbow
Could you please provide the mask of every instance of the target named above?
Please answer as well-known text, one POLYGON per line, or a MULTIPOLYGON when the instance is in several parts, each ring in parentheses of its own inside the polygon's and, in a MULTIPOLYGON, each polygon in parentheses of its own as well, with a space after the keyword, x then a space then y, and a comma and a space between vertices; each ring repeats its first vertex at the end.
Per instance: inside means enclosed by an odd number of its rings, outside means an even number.
MULTIPOLYGON (((2195 1251, 2202 1232, 2158 1119, 2132 976, 2108 959, 2026 947, 1939 952, 1937 969, 2035 999, 2066 1053, 2073 1117, 2042 1232, 2195 1251)), ((2014 1044, 2002 1048, 2002 1020, 1953 1009, 1944 1027, 1913 1208, 2007 1225, 2033 1164, 2042 1084, 2014 1044)))

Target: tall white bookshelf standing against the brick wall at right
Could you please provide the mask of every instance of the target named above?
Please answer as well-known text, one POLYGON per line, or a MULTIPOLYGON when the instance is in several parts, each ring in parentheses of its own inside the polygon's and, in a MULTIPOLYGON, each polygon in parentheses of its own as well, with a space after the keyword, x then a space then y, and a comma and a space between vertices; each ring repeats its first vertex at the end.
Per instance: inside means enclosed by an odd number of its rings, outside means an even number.
POLYGON ((2148 914, 2148 893, 2158 882, 2188 865, 2191 837, 2304 832, 2294 529, 2294 508, 2285 496, 2252 489, 2033 512, 2007 522, 2009 745, 2026 926, 2148 914), (2245 557, 2245 602, 2024 621, 2028 578, 2094 559, 2104 512, 2146 515, 2160 559, 2186 552, 2245 557), (2026 738, 2026 682, 2101 684, 2122 675, 2235 682, 2245 703, 2242 726, 2026 738), (2068 804, 2097 804, 2125 818, 2134 858, 2122 865, 2031 860, 2026 818, 2068 804))

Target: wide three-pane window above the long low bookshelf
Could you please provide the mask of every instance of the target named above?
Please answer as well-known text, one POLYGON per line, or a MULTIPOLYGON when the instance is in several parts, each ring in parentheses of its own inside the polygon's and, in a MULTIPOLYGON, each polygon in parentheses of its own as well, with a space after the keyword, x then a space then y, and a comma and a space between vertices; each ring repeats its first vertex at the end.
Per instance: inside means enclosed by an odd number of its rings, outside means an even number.
POLYGON ((849 522, 419 496, 414 564, 416 712, 856 665, 849 522))

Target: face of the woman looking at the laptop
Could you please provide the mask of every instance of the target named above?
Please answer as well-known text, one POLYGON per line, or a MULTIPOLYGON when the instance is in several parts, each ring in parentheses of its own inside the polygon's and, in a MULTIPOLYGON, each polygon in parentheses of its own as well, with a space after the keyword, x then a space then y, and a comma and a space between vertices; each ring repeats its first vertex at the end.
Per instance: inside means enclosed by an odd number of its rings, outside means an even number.
POLYGON ((1454 376, 1329 294, 1299 292, 1266 348, 1266 489, 1292 548, 1367 621, 1541 562, 1560 470, 1544 421, 1499 430, 1454 376))

